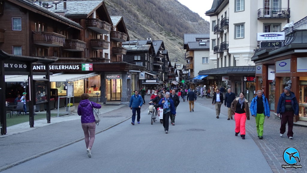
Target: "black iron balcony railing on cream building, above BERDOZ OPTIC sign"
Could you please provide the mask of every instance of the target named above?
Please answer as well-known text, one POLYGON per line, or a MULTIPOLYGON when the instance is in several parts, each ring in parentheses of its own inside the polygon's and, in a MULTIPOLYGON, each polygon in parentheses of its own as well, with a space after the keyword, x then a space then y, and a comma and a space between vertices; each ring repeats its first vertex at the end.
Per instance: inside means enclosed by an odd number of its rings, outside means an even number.
POLYGON ((289 19, 290 8, 261 8, 258 10, 258 19, 289 19))

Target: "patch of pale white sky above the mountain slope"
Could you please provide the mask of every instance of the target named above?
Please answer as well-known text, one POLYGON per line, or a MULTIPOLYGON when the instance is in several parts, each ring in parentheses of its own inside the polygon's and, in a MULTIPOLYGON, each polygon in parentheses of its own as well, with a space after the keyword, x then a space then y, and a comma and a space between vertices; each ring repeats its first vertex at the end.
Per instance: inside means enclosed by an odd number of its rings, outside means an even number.
POLYGON ((211 9, 213 0, 177 0, 181 4, 187 6, 190 10, 198 13, 200 17, 206 21, 210 21, 210 17, 205 15, 205 12, 211 9))

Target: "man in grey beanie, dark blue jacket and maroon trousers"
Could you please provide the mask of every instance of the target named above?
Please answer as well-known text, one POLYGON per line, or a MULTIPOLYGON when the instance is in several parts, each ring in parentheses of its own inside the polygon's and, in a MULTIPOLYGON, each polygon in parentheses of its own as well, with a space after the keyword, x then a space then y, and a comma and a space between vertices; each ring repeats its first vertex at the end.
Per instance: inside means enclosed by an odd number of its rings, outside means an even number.
POLYGON ((286 132, 286 124, 288 122, 287 136, 290 140, 293 139, 293 117, 298 116, 298 104, 294 92, 290 91, 291 88, 286 86, 284 92, 280 95, 276 113, 281 117, 280 134, 282 137, 286 132))

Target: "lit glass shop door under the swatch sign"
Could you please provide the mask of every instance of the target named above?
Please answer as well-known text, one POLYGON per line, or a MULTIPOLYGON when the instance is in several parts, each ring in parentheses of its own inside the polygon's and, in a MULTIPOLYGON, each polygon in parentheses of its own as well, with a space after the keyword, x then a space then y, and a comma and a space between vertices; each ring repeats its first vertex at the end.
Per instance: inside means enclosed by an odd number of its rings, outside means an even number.
POLYGON ((108 81, 109 91, 107 93, 110 94, 107 101, 120 101, 122 97, 122 80, 121 79, 111 79, 108 81))

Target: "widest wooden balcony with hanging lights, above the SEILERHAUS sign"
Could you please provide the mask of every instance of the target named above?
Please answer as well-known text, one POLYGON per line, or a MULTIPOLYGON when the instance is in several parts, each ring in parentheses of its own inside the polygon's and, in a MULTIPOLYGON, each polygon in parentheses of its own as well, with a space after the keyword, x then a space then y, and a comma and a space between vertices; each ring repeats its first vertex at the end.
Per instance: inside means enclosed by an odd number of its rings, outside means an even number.
POLYGON ((62 47, 66 36, 53 32, 33 32, 33 43, 47 47, 62 47))

